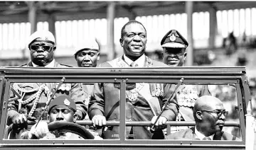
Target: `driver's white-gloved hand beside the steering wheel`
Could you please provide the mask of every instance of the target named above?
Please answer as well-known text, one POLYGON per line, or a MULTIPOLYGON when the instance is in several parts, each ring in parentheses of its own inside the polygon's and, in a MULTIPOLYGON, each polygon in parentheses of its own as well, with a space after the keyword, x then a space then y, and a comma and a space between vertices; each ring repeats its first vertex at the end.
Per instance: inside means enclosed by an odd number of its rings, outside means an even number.
POLYGON ((48 129, 47 122, 38 122, 38 125, 33 125, 31 127, 31 130, 28 132, 28 139, 33 139, 34 136, 36 136, 38 139, 41 139, 43 137, 46 137, 47 134, 50 134, 50 131, 48 129))

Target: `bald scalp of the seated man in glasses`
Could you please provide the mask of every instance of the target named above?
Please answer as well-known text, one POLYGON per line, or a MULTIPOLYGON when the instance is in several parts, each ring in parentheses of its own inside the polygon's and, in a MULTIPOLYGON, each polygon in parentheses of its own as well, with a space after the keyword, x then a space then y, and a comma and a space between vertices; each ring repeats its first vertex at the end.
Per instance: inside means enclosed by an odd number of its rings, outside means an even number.
POLYGON ((193 109, 193 116, 196 120, 196 112, 200 110, 215 110, 217 108, 223 107, 223 103, 213 96, 201 96, 196 100, 193 109))

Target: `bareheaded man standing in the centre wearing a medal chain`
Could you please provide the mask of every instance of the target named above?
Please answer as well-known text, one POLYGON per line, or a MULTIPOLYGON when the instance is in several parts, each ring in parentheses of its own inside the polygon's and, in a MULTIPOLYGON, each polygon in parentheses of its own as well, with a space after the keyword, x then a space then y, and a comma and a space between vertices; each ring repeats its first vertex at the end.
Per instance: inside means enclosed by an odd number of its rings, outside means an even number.
MULTIPOLYGON (((124 54, 99 67, 167 67, 144 54, 146 49, 146 29, 139 21, 129 21, 121 31, 119 40, 124 54)), ((127 83, 126 88, 126 121, 150 121, 154 124, 159 115, 160 105, 166 103, 171 96, 172 85, 156 83, 127 83)), ((119 120, 120 85, 116 83, 95 83, 94 96, 89 103, 88 114, 92 125, 104 126, 106 120, 119 120)), ((161 139, 156 132, 163 134, 162 125, 167 120, 175 120, 178 112, 176 100, 170 100, 167 107, 156 122, 155 132, 148 127, 126 127, 127 139, 161 139)), ((118 139, 119 127, 108 127, 102 132, 103 139, 118 139)))

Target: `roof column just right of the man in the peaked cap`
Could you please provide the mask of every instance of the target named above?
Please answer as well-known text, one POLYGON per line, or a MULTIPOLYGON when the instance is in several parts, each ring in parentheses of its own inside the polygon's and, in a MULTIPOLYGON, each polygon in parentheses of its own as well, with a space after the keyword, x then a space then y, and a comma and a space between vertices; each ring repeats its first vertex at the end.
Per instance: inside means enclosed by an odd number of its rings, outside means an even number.
POLYGON ((193 65, 193 1, 186 1, 185 8, 188 23, 188 47, 186 48, 188 55, 186 57, 186 66, 189 67, 193 65))

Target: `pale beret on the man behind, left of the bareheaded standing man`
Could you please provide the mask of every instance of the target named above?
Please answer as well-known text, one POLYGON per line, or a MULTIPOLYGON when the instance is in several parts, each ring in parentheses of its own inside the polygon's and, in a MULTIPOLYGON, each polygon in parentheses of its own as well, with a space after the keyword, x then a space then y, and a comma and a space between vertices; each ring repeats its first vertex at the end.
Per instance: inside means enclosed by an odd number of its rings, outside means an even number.
POLYGON ((85 40, 85 42, 82 42, 75 47, 74 55, 84 49, 100 50, 100 46, 95 39, 85 40))

